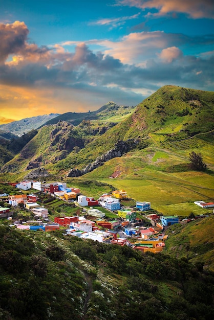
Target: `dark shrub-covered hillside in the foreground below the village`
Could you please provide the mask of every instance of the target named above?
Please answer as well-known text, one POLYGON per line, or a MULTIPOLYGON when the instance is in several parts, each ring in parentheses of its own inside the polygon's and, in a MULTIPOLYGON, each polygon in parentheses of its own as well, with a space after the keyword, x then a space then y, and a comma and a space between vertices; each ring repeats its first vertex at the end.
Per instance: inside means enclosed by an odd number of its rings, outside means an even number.
POLYGON ((210 319, 213 275, 200 263, 142 254, 63 231, 0 225, 1 319, 210 319))

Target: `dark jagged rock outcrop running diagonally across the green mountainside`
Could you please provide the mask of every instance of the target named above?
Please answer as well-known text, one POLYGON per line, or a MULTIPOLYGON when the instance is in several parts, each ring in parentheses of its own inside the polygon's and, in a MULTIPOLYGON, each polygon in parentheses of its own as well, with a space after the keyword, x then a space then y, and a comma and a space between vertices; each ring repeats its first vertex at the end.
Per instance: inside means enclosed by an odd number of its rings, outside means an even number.
POLYGON ((118 141, 115 144, 115 148, 109 150, 108 152, 104 153, 103 155, 96 158, 96 160, 92 164, 88 164, 84 169, 71 169, 68 172, 68 177, 79 177, 84 175, 88 172, 93 171, 94 169, 102 166, 106 161, 109 161, 116 157, 121 157, 124 153, 129 152, 132 150, 140 140, 138 139, 129 139, 127 141, 118 141))

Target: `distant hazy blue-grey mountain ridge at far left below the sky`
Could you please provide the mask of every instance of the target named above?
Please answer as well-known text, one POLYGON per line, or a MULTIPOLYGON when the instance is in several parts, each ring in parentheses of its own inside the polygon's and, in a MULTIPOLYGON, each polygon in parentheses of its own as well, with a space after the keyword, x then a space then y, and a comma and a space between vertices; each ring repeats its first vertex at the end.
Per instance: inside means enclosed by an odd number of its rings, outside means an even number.
POLYGON ((22 135, 24 132, 28 132, 33 129, 37 129, 48 120, 59 116, 58 113, 50 113, 50 115, 37 116, 32 118, 25 118, 19 121, 13 121, 7 124, 0 125, 1 130, 9 131, 16 135, 22 135))

